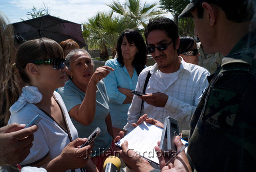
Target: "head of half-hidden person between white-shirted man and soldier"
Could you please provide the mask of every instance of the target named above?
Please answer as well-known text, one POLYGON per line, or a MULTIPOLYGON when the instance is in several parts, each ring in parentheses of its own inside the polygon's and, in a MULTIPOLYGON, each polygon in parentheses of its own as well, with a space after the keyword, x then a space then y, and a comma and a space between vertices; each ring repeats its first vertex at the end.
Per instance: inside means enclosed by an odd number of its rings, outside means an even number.
POLYGON ((193 37, 180 37, 180 47, 178 49, 178 54, 187 63, 198 65, 198 56, 200 53, 198 53, 197 42, 193 37))

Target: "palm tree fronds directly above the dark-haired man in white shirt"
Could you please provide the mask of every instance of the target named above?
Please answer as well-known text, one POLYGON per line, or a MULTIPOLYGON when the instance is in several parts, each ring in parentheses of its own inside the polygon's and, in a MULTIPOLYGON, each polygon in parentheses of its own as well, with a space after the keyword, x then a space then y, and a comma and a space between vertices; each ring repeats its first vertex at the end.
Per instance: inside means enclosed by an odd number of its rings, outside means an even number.
POLYGON ((124 8, 119 1, 108 4, 114 12, 123 16, 125 22, 131 27, 130 29, 139 29, 140 26, 144 29, 149 20, 160 17, 163 12, 156 7, 157 5, 157 3, 146 2, 141 4, 140 0, 126 0, 124 8))

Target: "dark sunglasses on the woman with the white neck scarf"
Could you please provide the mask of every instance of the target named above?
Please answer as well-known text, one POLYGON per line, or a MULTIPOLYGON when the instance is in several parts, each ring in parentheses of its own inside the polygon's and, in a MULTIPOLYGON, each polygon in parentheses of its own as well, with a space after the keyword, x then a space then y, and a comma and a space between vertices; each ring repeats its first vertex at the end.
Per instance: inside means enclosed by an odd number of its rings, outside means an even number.
POLYGON ((31 63, 34 63, 36 65, 53 65, 53 69, 63 69, 65 68, 66 65, 66 58, 49 58, 45 59, 44 61, 42 60, 36 60, 36 61, 31 61, 31 63))

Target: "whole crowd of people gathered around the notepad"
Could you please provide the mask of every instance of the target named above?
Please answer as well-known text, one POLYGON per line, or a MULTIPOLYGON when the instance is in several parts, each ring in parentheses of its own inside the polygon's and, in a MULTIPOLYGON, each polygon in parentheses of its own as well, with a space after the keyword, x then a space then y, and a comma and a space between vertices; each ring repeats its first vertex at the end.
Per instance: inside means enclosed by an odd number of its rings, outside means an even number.
MULTIPOLYGON (((255 11, 252 0, 191 0, 179 17, 194 18, 200 43, 159 17, 145 41, 123 31, 116 58, 95 71, 74 40, 25 40, 0 14, 0 171, 103 171, 116 152, 138 172, 256 170, 255 11), (159 156, 155 169, 129 140, 114 144, 143 121, 163 127, 167 116, 188 140, 172 163, 159 156)), ((180 136, 175 144, 183 146, 180 136)))

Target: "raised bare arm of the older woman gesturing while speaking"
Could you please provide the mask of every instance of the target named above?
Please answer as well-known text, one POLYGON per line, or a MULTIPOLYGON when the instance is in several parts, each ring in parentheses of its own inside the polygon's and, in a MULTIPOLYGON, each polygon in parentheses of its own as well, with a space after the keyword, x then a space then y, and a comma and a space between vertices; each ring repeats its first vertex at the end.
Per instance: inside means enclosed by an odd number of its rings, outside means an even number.
POLYGON ((81 104, 74 106, 70 111, 69 115, 83 125, 90 125, 95 116, 96 109, 96 91, 97 83, 104 77, 106 77, 110 71, 114 69, 111 67, 99 67, 95 70, 91 77, 84 97, 81 104))

